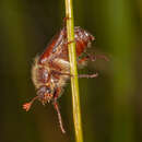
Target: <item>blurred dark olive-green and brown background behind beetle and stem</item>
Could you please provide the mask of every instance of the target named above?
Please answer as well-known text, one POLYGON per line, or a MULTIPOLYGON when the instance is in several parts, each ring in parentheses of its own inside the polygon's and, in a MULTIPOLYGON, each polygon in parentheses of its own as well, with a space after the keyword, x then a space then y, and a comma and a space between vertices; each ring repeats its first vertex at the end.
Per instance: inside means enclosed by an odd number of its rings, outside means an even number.
MULTIPOLYGON (((80 73, 84 142, 142 141, 142 1, 74 0, 74 24, 96 36, 97 60, 80 73)), ((35 96, 31 67, 62 26, 63 0, 0 1, 0 142, 74 142, 70 83, 59 99, 62 134, 51 104, 22 104, 35 96)))

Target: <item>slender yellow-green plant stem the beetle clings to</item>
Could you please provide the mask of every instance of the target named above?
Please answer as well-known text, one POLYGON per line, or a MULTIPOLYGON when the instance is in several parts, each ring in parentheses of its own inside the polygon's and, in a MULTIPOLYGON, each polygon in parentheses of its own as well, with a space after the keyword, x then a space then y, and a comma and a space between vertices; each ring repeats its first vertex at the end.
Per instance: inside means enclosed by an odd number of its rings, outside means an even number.
POLYGON ((78 68, 76 68, 76 54, 75 54, 75 43, 74 43, 72 0, 66 0, 66 17, 67 17, 68 43, 70 43, 68 44, 70 72, 73 75, 71 78, 71 87, 72 87, 72 105, 73 105, 73 121, 74 121, 74 129, 75 129, 75 139, 76 139, 76 142, 83 142, 79 82, 78 82, 78 68))

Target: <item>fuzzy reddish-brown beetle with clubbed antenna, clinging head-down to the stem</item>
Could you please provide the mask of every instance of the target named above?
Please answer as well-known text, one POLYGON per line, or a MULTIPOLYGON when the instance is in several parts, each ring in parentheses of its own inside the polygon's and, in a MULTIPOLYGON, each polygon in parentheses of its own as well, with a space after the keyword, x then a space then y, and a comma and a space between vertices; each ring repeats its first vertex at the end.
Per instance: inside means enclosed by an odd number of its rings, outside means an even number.
MULTIPOLYGON (((84 66, 88 60, 95 60, 95 56, 91 56, 86 52, 86 49, 91 47, 93 40, 95 40, 95 37, 92 34, 80 26, 74 27, 74 43, 79 67, 84 66), (83 54, 86 55, 82 57, 83 54)), ((67 80, 71 78, 68 44, 70 43, 68 43, 67 39, 67 28, 62 27, 46 47, 45 51, 35 58, 35 62, 32 67, 32 79, 37 95, 29 103, 23 105, 23 109, 28 111, 35 99, 42 102, 43 105, 51 102, 57 110, 60 128, 63 133, 66 131, 57 99, 61 96, 67 80)), ((79 78, 96 76, 97 73, 79 75, 79 78)))

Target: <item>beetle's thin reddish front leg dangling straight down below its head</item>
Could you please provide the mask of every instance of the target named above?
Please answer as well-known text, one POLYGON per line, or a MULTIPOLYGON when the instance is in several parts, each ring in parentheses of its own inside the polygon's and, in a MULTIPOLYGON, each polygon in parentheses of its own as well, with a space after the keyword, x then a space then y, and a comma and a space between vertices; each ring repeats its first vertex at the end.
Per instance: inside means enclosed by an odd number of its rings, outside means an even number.
POLYGON ((59 109, 59 105, 57 102, 54 102, 54 107, 57 111, 57 115, 58 115, 58 120, 59 120, 59 125, 60 125, 60 129, 62 131, 62 133, 66 133, 66 130, 63 128, 63 125, 62 125, 62 119, 61 119, 61 114, 60 114, 60 109, 59 109))

